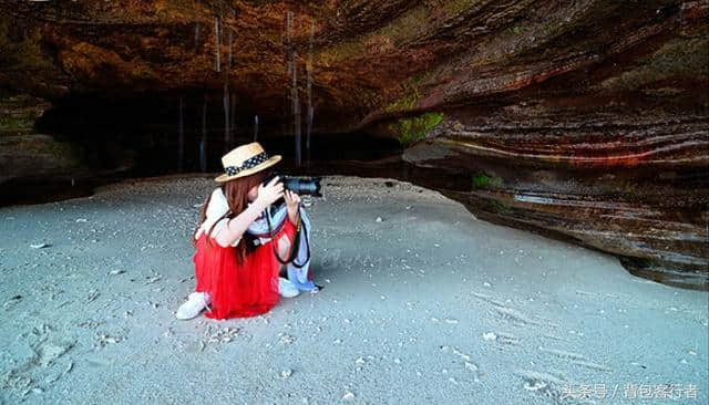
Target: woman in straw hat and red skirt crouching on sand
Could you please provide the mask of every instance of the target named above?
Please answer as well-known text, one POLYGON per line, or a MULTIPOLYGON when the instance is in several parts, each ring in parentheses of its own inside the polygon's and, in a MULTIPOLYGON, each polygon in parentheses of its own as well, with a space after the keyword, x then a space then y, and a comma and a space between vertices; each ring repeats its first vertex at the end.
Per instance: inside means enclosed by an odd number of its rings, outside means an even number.
POLYGON ((286 260, 300 219, 297 194, 284 190, 278 177, 263 184, 269 167, 279 160, 279 155, 269 157, 258 143, 239 146, 222 158, 225 174, 216 178, 222 185, 203 205, 193 238, 197 284, 177 310, 178 319, 195 318, 204 309, 212 319, 255 316, 276 305, 279 293, 299 293, 278 277, 280 266, 271 246, 276 240, 278 255, 286 260), (271 238, 253 237, 248 230, 263 222, 268 207, 281 197, 287 218, 282 215, 280 222, 273 224, 271 238))

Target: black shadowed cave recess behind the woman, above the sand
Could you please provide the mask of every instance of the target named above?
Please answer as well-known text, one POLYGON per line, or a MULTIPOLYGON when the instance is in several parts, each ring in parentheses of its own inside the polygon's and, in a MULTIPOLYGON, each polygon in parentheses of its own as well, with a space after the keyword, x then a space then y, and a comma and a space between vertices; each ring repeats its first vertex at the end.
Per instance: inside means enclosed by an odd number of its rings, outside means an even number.
MULTIPOLYGON (((4 189, 12 193, 1 195, 0 204, 38 204, 86 196, 97 186, 125 178, 199 173, 214 176, 223 170, 220 157, 238 145, 253 142, 255 135, 270 155, 282 156, 277 169, 288 175, 353 175, 407 181, 415 178, 419 185, 430 188, 461 191, 470 188, 467 176, 459 176, 454 170, 448 173, 405 163, 403 147, 395 138, 362 131, 332 131, 333 125, 328 129, 317 120, 309 149, 304 125, 302 159, 297 165, 292 116, 268 112, 261 115, 248 103, 235 106, 229 114, 227 136, 225 108, 216 95, 205 97, 203 93, 194 93, 183 95, 182 100, 179 95, 85 95, 63 100, 44 112, 34 129, 74 145, 82 166, 50 177, 11 179, 4 189), (204 162, 203 143, 206 144, 204 162)), ((332 124, 338 123, 339 117, 319 118, 332 124)))

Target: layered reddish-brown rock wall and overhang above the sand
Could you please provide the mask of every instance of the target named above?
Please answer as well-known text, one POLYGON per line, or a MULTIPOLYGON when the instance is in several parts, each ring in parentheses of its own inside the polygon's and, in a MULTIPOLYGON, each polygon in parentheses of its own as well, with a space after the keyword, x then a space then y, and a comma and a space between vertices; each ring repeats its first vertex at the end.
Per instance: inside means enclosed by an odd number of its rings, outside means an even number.
MULTIPOLYGON (((305 126, 310 100, 316 133, 399 139, 409 164, 458 177, 462 187, 439 188, 482 218, 707 288, 706 1, 126 0, 6 10, 0 85, 58 108, 101 98, 130 114, 131 101, 194 106, 205 97, 212 113, 258 114, 291 134, 294 111, 305 126)), ((49 127, 72 132, 58 115, 49 127)), ((228 120, 219 125, 228 133, 228 120)))

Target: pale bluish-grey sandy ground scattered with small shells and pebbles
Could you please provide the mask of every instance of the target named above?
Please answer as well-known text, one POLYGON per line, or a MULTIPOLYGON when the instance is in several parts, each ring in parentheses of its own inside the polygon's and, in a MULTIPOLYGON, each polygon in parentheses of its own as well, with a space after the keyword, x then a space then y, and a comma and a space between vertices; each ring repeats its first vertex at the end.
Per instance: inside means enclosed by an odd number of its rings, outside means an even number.
POLYGON ((323 185, 325 289, 224 322, 174 315, 209 179, 0 208, 1 402, 707 404, 707 292, 407 183, 323 185))

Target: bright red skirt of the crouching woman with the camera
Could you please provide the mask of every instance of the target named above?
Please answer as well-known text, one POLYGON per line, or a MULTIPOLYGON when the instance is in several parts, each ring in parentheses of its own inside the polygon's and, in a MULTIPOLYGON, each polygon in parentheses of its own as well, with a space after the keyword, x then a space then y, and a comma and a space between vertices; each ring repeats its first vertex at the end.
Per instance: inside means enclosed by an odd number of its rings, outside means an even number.
MULTIPOLYGON (((296 227, 288 218, 284 224, 274 241, 284 235, 294 240, 296 227)), ((207 292, 212 298, 212 311, 207 310, 205 316, 222 320, 256 316, 270 311, 279 298, 279 262, 274 256, 271 241, 258 246, 239 266, 235 248, 223 248, 214 239, 207 245, 205 233, 197 240, 193 258, 197 279, 195 291, 207 292)))

